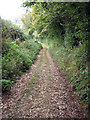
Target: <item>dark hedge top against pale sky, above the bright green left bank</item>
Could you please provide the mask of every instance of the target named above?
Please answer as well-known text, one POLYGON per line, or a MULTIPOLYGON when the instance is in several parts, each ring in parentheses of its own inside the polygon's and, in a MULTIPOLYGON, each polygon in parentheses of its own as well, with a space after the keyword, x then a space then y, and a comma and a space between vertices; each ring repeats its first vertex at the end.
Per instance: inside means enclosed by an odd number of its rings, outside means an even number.
POLYGON ((10 38, 15 41, 17 38, 19 38, 20 41, 24 41, 27 38, 23 30, 13 24, 11 21, 1 19, 1 23, 3 39, 10 38))

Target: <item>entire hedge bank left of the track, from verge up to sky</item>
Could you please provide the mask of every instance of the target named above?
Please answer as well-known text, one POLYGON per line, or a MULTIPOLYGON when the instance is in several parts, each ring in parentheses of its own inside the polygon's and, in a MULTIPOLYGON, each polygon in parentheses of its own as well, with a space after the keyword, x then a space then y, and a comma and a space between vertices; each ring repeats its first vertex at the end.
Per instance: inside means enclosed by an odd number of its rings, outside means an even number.
MULTIPOLYGON (((2 20, 2 90, 11 88, 13 82, 29 69, 42 46, 28 40, 28 36, 10 21, 2 20)), ((1 72, 1 71, 0 71, 1 72)))

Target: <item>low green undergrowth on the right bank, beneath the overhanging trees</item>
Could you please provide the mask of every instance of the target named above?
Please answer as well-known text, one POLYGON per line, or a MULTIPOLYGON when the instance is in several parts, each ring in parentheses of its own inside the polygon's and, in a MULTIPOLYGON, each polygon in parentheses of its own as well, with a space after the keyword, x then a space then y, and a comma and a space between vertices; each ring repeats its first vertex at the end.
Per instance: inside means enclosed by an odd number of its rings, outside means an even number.
POLYGON ((88 61, 86 44, 79 45, 73 49, 63 46, 50 47, 49 52, 57 62, 60 69, 68 76, 71 87, 76 96, 81 99, 85 109, 88 110, 88 61))

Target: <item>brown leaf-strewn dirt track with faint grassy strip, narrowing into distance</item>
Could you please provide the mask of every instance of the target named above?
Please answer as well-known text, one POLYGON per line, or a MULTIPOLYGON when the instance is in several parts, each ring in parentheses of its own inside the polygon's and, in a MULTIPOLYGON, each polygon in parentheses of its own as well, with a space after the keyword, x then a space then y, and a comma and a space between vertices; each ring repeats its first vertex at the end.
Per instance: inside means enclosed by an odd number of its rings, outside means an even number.
POLYGON ((3 118, 87 118, 68 79, 45 48, 2 101, 3 118))

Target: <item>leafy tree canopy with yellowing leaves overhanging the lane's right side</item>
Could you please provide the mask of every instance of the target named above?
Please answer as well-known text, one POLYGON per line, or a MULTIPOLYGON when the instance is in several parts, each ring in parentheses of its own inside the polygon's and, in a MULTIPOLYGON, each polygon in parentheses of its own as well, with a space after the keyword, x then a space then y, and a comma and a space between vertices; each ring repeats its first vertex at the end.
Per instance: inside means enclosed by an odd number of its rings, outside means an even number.
POLYGON ((88 3, 30 2, 25 7, 32 7, 22 18, 27 30, 37 37, 61 38, 64 46, 78 46, 88 37, 88 3), (24 20, 23 20, 24 19, 24 20))

